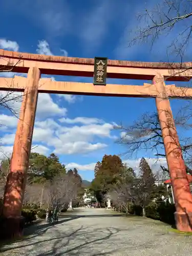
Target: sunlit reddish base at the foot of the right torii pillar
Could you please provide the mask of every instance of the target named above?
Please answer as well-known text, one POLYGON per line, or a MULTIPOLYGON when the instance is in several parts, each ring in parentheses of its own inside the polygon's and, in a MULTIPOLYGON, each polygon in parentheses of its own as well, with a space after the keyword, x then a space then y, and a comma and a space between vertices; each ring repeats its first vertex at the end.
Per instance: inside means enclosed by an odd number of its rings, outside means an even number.
POLYGON ((175 212, 174 215, 178 230, 192 232, 192 212, 175 212))

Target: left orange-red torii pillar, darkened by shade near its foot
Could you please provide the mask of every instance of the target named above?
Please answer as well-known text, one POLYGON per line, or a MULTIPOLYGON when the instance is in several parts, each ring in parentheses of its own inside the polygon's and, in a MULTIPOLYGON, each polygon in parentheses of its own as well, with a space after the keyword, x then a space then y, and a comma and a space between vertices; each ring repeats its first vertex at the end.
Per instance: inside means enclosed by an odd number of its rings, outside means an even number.
POLYGON ((30 68, 17 124, 10 172, 5 187, 4 223, 1 227, 3 238, 19 237, 23 234, 24 218, 21 216, 21 212, 31 152, 39 78, 39 69, 36 67, 30 68))

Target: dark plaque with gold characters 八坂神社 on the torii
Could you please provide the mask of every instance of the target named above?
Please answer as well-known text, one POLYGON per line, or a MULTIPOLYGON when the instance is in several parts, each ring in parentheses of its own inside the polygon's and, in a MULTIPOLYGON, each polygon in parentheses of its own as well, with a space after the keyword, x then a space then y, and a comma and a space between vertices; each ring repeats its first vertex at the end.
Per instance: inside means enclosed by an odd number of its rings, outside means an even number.
POLYGON ((94 84, 96 86, 106 85, 106 66, 108 64, 108 58, 95 57, 94 63, 94 84))

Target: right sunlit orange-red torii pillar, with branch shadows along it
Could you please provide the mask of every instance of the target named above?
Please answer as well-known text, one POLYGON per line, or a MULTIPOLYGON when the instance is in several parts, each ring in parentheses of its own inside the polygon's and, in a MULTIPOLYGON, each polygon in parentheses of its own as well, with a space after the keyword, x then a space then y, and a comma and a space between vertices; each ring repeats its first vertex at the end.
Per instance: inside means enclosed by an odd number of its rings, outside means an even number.
POLYGON ((155 76, 153 84, 156 85, 158 92, 158 96, 156 97, 156 106, 161 125, 167 165, 173 187, 176 206, 176 226, 180 231, 191 232, 192 195, 172 110, 170 109, 170 102, 165 91, 164 78, 161 75, 155 76))

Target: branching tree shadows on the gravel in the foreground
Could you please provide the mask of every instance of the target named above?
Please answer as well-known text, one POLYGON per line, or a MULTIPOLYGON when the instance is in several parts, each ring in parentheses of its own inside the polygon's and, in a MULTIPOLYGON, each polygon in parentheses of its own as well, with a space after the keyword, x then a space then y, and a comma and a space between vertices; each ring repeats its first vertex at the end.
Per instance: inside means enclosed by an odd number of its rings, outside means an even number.
MULTIPOLYGON (((110 244, 104 241, 109 240, 119 231, 122 230, 117 228, 106 228, 105 232, 103 232, 103 229, 94 228, 94 226, 89 226, 89 229, 81 226, 69 233, 64 231, 61 232, 57 229, 54 230, 54 237, 52 238, 42 239, 36 242, 29 241, 27 244, 20 244, 12 248, 2 249, 1 252, 10 252, 11 254, 11 250, 19 249, 19 251, 25 252, 25 255, 30 255, 30 252, 32 252, 35 256, 111 255, 115 250, 111 249, 110 244), (51 244, 51 246, 49 246, 50 248, 48 247, 48 244, 51 244), (41 251, 40 248, 43 248, 42 250, 44 251, 41 251), (103 248, 105 251, 102 252, 103 248)), ((33 238, 31 238, 31 240, 33 240, 33 238)))

